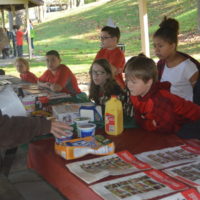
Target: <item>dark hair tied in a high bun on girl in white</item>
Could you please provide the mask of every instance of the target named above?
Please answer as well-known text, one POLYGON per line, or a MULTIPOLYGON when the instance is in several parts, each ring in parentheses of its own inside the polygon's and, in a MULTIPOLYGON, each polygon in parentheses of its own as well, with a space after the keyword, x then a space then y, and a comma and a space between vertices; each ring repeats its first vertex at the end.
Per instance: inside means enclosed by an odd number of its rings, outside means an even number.
POLYGON ((164 17, 159 24, 160 28, 154 33, 153 37, 160 37, 168 43, 178 43, 179 22, 172 18, 164 17))

